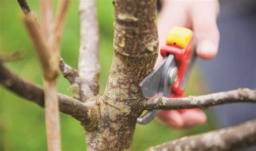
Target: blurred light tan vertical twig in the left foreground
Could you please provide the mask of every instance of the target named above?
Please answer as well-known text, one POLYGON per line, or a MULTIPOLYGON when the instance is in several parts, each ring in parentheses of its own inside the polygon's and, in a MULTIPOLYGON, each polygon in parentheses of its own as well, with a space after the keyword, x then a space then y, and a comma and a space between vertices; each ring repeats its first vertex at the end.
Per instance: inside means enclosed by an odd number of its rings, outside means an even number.
MULTIPOLYGON (((50 39, 52 33, 50 32, 50 27, 52 25, 52 1, 51 0, 41 0, 41 29, 43 32, 43 38, 46 39, 48 47, 50 48, 50 54, 53 58, 47 58, 51 61, 52 66, 57 66, 58 53, 53 49, 53 44, 55 44, 55 39, 52 42, 50 39)), ((59 104, 57 98, 57 86, 56 77, 54 79, 44 79, 44 102, 45 102, 45 123, 46 123, 46 133, 47 133, 47 144, 48 150, 61 150, 60 146, 60 121, 59 121, 59 104)))

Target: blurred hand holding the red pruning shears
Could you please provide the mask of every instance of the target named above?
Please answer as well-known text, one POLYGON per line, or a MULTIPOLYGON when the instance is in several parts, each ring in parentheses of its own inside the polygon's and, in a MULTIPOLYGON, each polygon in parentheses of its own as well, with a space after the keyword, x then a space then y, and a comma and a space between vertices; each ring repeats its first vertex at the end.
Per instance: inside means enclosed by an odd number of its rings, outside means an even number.
MULTIPOLYGON (((211 59, 216 56, 219 45, 219 30, 216 19, 219 13, 217 0, 178 1, 162 0, 158 19, 159 48, 165 44, 167 33, 172 26, 183 26, 194 31, 197 37, 197 54, 200 58, 211 59)), ((163 60, 158 55, 157 63, 163 60)), ((200 109, 161 111, 158 119, 172 127, 190 127, 206 121, 200 109)))

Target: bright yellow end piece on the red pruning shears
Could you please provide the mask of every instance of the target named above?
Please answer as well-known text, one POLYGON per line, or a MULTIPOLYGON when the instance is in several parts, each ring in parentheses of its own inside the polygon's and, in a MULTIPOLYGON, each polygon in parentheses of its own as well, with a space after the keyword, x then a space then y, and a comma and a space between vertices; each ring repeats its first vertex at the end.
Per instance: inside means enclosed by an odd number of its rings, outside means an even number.
POLYGON ((192 36, 193 33, 190 29, 174 26, 168 33, 166 44, 176 44, 185 48, 192 36))

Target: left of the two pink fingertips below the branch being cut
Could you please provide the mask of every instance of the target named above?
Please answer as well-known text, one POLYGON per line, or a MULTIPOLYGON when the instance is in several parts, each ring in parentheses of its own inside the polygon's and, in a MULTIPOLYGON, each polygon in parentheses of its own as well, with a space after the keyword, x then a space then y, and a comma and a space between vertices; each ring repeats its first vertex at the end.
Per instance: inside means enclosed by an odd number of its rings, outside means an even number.
POLYGON ((182 127, 183 118, 177 110, 163 110, 158 113, 158 119, 171 127, 182 127))

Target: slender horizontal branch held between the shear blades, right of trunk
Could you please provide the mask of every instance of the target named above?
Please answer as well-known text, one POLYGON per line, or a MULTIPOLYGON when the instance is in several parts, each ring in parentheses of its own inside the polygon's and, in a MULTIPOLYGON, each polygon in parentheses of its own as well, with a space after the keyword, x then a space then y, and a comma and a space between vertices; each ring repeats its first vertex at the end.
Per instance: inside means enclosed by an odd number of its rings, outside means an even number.
POLYGON ((211 106, 234 102, 256 103, 256 90, 240 88, 238 90, 219 92, 198 97, 186 98, 150 98, 144 100, 144 109, 187 109, 208 108, 211 106))

